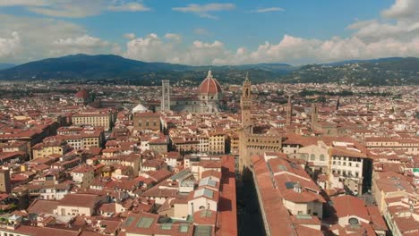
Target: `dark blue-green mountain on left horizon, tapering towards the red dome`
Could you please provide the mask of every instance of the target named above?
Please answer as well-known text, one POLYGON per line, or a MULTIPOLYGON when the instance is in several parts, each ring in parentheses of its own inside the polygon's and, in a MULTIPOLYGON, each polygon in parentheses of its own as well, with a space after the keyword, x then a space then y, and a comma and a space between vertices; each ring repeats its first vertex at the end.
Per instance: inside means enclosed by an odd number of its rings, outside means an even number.
POLYGON ((24 63, 0 72, 0 79, 105 79, 131 72, 185 71, 190 67, 170 63, 144 63, 118 55, 66 55, 24 63))

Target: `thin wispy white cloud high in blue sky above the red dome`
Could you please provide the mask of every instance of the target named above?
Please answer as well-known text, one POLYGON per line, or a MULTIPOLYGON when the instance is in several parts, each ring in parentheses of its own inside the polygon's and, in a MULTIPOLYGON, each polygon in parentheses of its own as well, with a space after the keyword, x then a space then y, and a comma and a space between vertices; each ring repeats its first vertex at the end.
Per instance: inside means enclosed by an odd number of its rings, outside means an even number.
POLYGON ((235 4, 188 4, 184 7, 174 7, 172 9, 182 13, 194 13, 203 18, 218 19, 217 16, 210 13, 234 10, 235 4))

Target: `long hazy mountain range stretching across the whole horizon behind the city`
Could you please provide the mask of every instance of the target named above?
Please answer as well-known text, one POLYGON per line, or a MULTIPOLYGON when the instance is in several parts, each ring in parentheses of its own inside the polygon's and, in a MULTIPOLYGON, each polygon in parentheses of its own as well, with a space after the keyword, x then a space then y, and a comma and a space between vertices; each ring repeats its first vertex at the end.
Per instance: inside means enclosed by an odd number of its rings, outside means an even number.
POLYGON ((0 64, 0 80, 128 80, 152 85, 160 80, 199 83, 209 68, 222 83, 241 83, 249 72, 252 81, 287 83, 338 82, 355 85, 419 84, 419 59, 389 57, 326 64, 292 66, 286 63, 258 63, 223 66, 191 66, 173 63, 145 63, 119 55, 66 55, 40 61, 0 64))

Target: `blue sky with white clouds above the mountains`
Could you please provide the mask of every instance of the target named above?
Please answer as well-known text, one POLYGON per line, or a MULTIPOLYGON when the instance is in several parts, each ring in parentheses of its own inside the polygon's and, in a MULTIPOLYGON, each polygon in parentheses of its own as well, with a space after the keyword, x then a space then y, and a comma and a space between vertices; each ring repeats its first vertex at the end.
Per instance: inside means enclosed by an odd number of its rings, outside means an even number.
POLYGON ((419 56, 419 0, 0 0, 0 63, 220 65, 419 56))

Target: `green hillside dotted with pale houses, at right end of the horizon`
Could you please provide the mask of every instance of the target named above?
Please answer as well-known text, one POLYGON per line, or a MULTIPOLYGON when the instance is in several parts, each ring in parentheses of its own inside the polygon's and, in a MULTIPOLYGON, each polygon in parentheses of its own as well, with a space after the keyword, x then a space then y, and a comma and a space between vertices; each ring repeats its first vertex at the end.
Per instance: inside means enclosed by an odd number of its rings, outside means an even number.
POLYGON ((419 58, 390 57, 329 64, 308 64, 280 79, 288 83, 338 82, 359 86, 419 85, 419 58))

